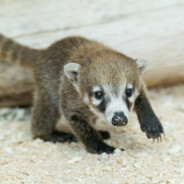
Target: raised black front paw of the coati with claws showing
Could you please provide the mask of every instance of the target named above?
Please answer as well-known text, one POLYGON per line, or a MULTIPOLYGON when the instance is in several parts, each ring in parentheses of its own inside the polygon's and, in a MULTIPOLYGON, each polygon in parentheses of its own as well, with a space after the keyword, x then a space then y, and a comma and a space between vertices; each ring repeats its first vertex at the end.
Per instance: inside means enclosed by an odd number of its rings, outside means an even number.
POLYGON ((164 134, 162 124, 157 118, 141 123, 141 130, 146 133, 148 139, 157 139, 157 141, 161 141, 161 135, 164 134))

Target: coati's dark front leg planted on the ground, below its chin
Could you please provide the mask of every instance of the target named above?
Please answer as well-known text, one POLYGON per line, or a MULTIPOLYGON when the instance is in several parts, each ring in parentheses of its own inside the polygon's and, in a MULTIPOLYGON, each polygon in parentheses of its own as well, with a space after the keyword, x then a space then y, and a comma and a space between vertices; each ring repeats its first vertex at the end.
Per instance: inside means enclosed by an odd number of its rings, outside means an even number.
POLYGON ((113 153, 115 148, 103 142, 101 135, 93 129, 86 121, 77 116, 70 118, 70 125, 74 134, 86 146, 91 153, 113 153))

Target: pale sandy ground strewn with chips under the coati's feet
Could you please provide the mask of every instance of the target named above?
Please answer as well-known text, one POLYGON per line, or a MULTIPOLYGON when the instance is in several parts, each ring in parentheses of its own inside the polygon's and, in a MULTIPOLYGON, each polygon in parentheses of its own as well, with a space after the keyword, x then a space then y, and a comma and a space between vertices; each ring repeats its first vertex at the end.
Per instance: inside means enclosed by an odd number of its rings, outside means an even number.
POLYGON ((81 143, 32 140, 27 111, 1 109, 0 183, 184 183, 184 85, 152 90, 149 96, 165 138, 148 140, 135 115, 124 128, 100 124, 111 132, 109 144, 126 149, 113 155, 89 154, 81 143))

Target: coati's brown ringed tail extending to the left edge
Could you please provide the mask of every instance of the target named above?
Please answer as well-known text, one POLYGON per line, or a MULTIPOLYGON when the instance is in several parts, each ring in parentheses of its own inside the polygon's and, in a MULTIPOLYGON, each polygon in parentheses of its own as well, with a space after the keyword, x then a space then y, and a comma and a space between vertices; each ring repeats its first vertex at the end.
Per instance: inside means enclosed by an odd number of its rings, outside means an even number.
POLYGON ((33 68, 40 51, 23 46, 0 34, 0 59, 33 68))

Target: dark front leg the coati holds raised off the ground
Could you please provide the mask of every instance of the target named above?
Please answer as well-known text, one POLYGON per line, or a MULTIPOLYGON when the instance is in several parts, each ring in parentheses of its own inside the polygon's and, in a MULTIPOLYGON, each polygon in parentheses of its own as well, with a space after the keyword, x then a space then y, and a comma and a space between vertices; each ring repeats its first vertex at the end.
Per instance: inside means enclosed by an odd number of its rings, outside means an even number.
POLYGON ((135 101, 135 111, 141 130, 146 132, 147 137, 157 140, 159 140, 159 138, 161 139, 161 134, 164 133, 162 124, 153 112, 143 89, 135 101))

